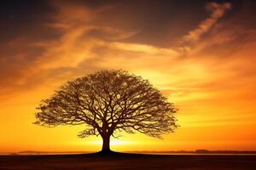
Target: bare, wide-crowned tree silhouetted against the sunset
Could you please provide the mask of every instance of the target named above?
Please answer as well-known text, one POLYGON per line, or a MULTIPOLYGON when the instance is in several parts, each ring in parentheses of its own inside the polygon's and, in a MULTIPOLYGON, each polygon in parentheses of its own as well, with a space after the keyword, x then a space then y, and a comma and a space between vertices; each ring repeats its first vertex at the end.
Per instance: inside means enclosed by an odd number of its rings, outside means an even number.
POLYGON ((148 80, 126 71, 97 71, 67 82, 36 113, 38 125, 85 124, 79 137, 101 135, 102 151, 108 152, 115 133, 147 134, 161 138, 177 127, 177 109, 148 80))

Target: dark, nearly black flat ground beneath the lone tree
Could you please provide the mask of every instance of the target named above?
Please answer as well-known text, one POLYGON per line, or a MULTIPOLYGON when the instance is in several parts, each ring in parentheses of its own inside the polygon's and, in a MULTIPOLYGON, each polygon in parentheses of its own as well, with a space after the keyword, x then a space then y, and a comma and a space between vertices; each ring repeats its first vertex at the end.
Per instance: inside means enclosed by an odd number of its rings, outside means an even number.
POLYGON ((54 155, 0 156, 2 170, 42 169, 256 169, 256 156, 224 155, 54 155))

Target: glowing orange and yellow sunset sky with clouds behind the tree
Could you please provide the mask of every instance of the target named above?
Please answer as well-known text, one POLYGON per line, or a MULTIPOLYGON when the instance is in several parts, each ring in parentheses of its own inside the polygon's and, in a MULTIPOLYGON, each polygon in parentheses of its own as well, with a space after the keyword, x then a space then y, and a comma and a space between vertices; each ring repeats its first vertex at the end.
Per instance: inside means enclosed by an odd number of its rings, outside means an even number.
POLYGON ((102 69, 148 79, 178 108, 175 133, 126 150, 256 150, 254 1, 1 1, 0 152, 96 151, 84 126, 40 127, 61 84, 102 69))

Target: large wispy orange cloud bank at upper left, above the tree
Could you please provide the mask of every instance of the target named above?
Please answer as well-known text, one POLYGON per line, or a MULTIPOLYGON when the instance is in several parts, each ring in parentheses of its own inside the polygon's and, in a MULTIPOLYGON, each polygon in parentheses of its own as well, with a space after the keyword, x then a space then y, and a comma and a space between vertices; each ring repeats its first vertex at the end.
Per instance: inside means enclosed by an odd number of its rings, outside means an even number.
MULTIPOLYGON (((90 8, 66 1, 56 1, 52 5, 55 13, 51 15, 50 20, 42 23, 42 26, 47 31, 54 31, 57 36, 38 41, 23 41, 24 38, 21 38, 12 43, 12 47, 20 44, 26 47, 23 48, 24 52, 16 53, 16 56, 19 56, 16 59, 24 59, 25 65, 15 66, 14 72, 9 75, 12 85, 5 86, 8 88, 4 90, 5 94, 11 94, 9 90, 22 92, 23 89, 42 86, 49 81, 62 82, 63 79, 84 75, 84 71, 113 67, 130 70, 132 62, 150 67, 151 62, 161 63, 162 57, 178 55, 172 48, 123 42, 125 38, 136 35, 138 31, 120 30, 113 26, 97 24, 95 20, 103 17, 102 13, 111 10, 113 6, 90 8), (32 58, 26 54, 27 51, 31 51, 30 49, 35 51, 32 58), (131 56, 134 58, 131 62, 125 61, 131 56), (130 65, 116 65, 118 62, 130 65), (18 74, 17 77, 15 74, 18 74)), ((18 63, 15 61, 15 64, 18 63)), ((5 83, 10 82, 5 80, 5 83)), ((3 92, 3 88, 1 91, 3 92)))

